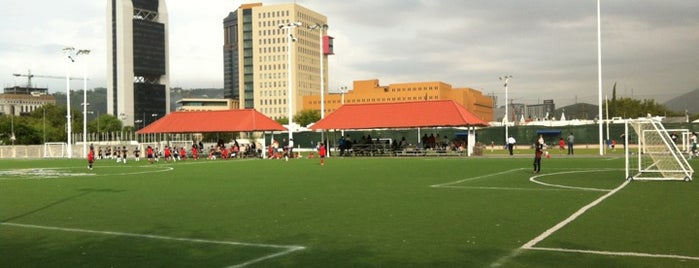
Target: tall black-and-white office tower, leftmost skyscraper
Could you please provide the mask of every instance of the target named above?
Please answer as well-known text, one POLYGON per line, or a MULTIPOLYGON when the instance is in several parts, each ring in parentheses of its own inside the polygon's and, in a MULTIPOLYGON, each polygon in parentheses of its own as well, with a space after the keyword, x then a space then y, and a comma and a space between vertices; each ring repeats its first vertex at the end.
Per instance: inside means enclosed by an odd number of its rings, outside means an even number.
POLYGON ((142 128, 170 111, 165 0, 107 1, 107 112, 142 128))

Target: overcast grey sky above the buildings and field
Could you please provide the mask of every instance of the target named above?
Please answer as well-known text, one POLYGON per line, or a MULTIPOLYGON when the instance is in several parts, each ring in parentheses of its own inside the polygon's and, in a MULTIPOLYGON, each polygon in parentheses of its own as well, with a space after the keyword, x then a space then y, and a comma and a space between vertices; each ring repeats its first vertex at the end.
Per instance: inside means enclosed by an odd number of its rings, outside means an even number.
MULTIPOLYGON (((173 87, 223 87, 223 18, 243 3, 170 0, 173 87)), ((290 1, 264 1, 265 5, 290 1)), ((504 99, 597 103, 595 0, 299 0, 328 17, 335 37, 330 90, 443 81, 504 99)), ((13 73, 65 77, 65 46, 92 50, 88 87, 105 87, 107 0, 0 0, 0 84, 13 73)), ((602 77, 611 97, 664 102, 699 88, 699 1, 602 1, 602 77)), ((78 65, 79 66, 79 65, 78 65)), ((82 69, 73 72, 82 76, 82 69)), ((35 78, 64 91, 65 80, 35 78)), ((73 82, 73 88, 82 88, 73 82)), ((699 101, 699 100, 697 100, 699 101)), ((502 103, 501 103, 502 104, 502 103)))

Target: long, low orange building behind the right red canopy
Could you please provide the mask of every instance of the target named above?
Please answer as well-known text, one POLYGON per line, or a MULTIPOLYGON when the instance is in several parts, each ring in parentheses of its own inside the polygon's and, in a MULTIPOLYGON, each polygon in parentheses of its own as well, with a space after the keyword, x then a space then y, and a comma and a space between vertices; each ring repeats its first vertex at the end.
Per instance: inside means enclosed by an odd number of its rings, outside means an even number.
MULTIPOLYGON (((391 103, 421 100, 453 100, 486 122, 493 121, 493 98, 472 88, 452 88, 444 82, 415 82, 379 85, 378 79, 354 81, 345 94, 326 94, 325 113, 344 103, 391 103)), ((320 96, 304 96, 304 110, 320 110, 320 96)))

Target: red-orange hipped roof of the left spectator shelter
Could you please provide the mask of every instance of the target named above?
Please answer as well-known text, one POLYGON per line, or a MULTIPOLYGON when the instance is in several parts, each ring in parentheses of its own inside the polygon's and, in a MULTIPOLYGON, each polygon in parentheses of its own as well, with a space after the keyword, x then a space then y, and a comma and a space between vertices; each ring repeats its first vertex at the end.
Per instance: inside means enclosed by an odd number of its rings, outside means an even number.
POLYGON ((253 109, 172 112, 136 134, 284 131, 286 128, 253 109))

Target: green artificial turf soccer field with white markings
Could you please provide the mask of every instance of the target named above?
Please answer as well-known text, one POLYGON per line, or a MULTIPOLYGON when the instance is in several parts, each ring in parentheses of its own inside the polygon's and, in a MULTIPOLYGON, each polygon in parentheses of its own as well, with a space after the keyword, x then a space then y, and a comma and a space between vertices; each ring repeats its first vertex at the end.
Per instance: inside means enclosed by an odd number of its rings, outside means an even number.
POLYGON ((553 157, 541 174, 531 164, 3 160, 0 263, 699 267, 696 182, 627 183, 618 157, 553 157))

